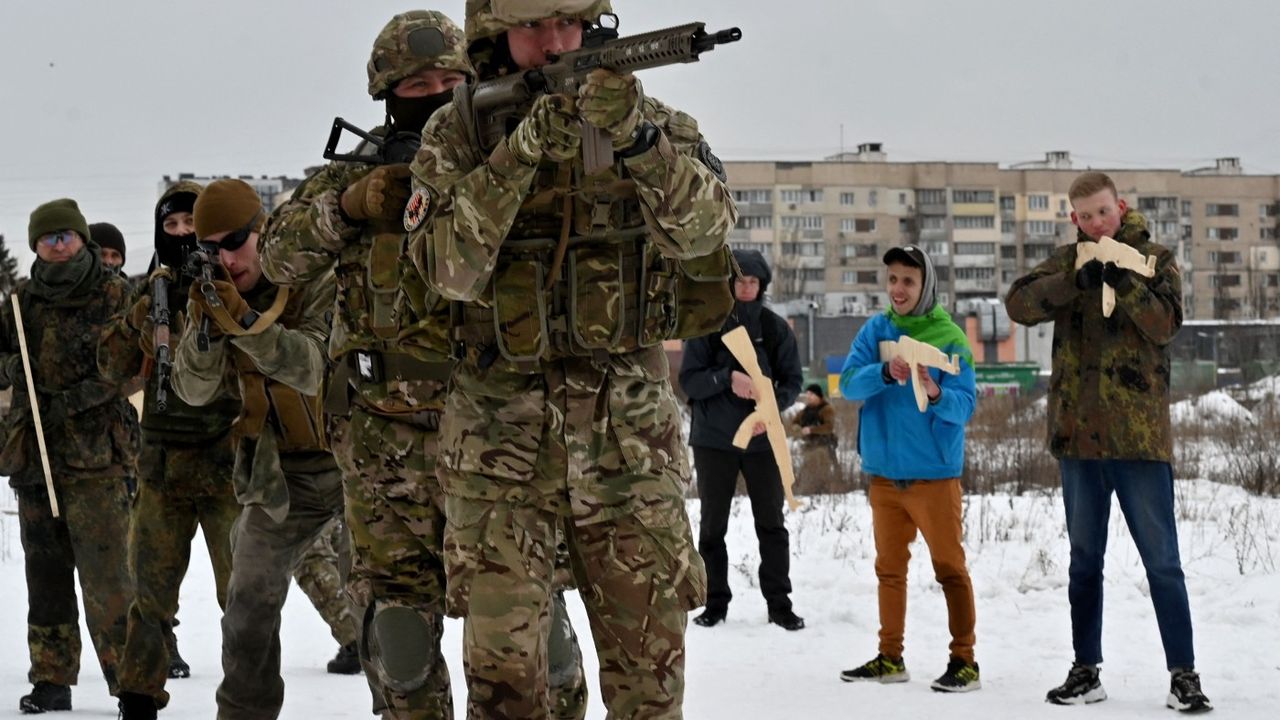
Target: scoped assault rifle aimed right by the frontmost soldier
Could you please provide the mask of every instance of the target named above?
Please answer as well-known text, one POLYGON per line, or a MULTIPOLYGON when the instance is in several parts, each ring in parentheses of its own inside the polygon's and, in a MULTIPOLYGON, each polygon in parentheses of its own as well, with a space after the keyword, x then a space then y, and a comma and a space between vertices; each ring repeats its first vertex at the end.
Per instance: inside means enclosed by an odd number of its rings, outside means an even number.
MULTIPOLYGON (((582 33, 581 49, 554 56, 548 65, 484 81, 474 87, 471 109, 480 147, 488 150, 497 146, 525 117, 529 102, 536 96, 576 96, 579 85, 596 68, 627 74, 695 63, 703 53, 742 38, 742 31, 736 27, 707 32, 705 23, 696 22, 618 37, 617 15, 611 13, 600 18, 612 18, 612 22, 588 28, 582 33)), ((582 164, 590 176, 613 164, 613 141, 600 128, 584 127, 582 131, 582 164)))

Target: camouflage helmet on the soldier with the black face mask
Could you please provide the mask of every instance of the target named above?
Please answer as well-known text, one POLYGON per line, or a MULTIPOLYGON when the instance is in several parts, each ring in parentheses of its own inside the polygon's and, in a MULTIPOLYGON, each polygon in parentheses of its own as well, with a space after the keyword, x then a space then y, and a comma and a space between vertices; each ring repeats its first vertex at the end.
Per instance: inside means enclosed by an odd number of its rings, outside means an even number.
POLYGON ((444 13, 410 10, 390 19, 369 56, 369 95, 381 100, 401 79, 428 69, 457 70, 468 78, 462 31, 444 13))

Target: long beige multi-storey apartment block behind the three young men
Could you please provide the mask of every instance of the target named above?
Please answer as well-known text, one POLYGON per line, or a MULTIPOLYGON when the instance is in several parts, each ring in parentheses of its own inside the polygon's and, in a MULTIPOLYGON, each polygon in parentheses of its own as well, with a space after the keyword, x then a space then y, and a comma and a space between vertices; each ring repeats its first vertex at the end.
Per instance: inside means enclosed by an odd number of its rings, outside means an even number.
MULTIPOLYGON (((1065 151, 996 163, 892 163, 879 143, 822 161, 728 161, 739 205, 733 247, 771 258, 777 300, 824 314, 886 306, 881 256, 914 242, 934 259, 940 299, 1002 297, 1053 247, 1074 242, 1065 151)), ((1280 316, 1280 176, 1235 158, 1192 170, 1103 170, 1178 252, 1188 318, 1280 316)))

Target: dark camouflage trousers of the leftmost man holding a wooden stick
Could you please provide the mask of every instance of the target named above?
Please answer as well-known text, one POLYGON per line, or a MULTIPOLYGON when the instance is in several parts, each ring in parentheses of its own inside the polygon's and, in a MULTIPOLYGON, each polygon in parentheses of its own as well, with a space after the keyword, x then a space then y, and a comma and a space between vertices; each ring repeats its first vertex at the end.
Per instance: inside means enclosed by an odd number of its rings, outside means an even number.
POLYGON ((111 694, 124 648, 133 583, 125 560, 128 491, 123 478, 56 480, 59 518, 44 486, 22 487, 18 525, 27 569, 27 646, 32 683, 74 685, 81 634, 76 598, 79 574, 90 639, 111 694))

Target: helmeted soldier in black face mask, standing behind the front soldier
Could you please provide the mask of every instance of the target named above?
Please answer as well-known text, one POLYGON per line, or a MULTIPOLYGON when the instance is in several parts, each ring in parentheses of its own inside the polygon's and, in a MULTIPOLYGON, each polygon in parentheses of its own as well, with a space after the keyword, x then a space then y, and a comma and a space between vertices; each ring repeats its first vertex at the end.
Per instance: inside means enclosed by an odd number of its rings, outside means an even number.
MULTIPOLYGON (((338 301, 329 355, 337 372, 326 409, 343 468, 353 539, 351 593, 364 609, 365 660, 396 719, 452 717, 439 651, 444 612, 444 498, 435 479, 436 429, 452 366, 448 304, 401 261, 408 165, 428 117, 472 77, 462 31, 445 15, 396 15, 374 42, 369 92, 385 100, 389 138, 370 164, 333 163, 294 191, 269 223, 264 272, 280 284, 334 269, 338 301), (381 164, 403 159, 399 164, 381 164), (408 269, 410 283, 402 292, 408 269), (348 418, 349 415, 349 418, 348 418)), ((557 596, 557 717, 586 712, 581 653, 557 596)))

